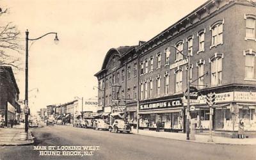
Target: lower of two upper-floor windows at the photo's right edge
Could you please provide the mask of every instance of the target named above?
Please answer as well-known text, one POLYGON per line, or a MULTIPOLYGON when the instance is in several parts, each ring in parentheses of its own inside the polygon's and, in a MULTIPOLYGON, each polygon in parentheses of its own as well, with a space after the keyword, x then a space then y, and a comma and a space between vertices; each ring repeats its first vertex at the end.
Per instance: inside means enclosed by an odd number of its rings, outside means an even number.
POLYGON ((255 55, 245 55, 245 79, 256 79, 255 77, 255 55))

